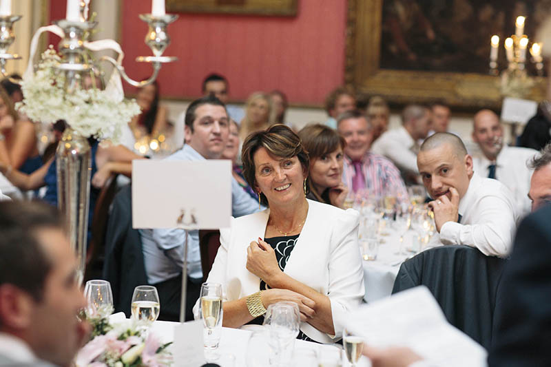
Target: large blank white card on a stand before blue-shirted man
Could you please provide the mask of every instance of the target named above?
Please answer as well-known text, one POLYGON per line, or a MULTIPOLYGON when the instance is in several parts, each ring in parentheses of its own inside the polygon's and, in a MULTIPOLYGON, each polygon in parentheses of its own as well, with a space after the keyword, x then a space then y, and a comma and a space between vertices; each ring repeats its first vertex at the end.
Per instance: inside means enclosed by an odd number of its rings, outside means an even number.
POLYGON ((132 227, 229 227, 229 160, 134 160, 132 227))

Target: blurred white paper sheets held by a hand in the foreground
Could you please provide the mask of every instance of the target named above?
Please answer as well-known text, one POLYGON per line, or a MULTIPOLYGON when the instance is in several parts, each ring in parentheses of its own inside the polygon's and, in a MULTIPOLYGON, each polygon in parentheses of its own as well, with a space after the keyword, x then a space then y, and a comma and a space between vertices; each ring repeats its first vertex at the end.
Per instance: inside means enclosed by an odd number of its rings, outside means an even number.
POLYGON ((486 350, 448 323, 425 286, 357 308, 346 328, 370 346, 411 348, 430 366, 486 366, 486 350))

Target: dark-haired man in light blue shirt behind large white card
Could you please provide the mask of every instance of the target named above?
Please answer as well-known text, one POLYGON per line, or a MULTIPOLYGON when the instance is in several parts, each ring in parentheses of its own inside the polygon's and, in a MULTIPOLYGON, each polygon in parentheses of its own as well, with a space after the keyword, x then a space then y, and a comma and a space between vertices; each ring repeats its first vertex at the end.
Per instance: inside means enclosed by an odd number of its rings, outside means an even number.
MULTIPOLYGON (((185 117, 186 144, 167 160, 220 159, 229 136, 229 118, 224 106, 215 96, 205 96, 187 107, 185 117)), ((185 172, 183 172, 185 174, 185 172)), ((253 200, 231 180, 233 216, 258 211, 253 200)), ((183 229, 141 229, 147 281, 157 287, 160 319, 177 321, 180 315, 181 273, 184 258, 185 231, 183 229)), ((187 305, 186 319, 193 319, 191 308, 199 297, 202 270, 199 251, 199 231, 189 231, 187 243, 187 305)))

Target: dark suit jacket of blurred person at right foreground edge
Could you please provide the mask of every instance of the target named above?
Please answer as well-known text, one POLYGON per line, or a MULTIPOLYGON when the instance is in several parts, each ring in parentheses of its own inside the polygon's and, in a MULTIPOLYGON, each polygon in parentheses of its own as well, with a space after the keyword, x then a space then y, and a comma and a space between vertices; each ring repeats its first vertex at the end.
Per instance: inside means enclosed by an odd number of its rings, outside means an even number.
POLYGON ((503 271, 490 366, 551 366, 551 206, 528 216, 503 271))

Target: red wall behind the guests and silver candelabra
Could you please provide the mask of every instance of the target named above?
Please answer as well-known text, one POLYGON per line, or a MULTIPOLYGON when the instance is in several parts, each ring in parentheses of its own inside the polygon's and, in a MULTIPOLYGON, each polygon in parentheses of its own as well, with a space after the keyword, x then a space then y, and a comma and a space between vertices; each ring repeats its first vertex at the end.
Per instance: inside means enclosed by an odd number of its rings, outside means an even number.
MULTIPOLYGON (((65 6, 52 0, 54 14, 65 6), (57 5, 54 5, 57 4, 57 5)), ((63 1, 64 2, 64 1, 63 1)), ((200 96, 210 72, 227 76, 230 96, 242 101, 257 90, 282 90, 291 103, 320 105, 344 82, 346 0, 298 0, 297 17, 253 17, 222 14, 179 14, 169 25, 171 45, 158 81, 164 97, 200 96)), ((143 39, 147 25, 138 14, 151 11, 149 0, 123 0, 121 45, 124 66, 132 78, 145 78, 151 65, 136 56, 151 51, 143 39)), ((101 24, 99 25, 101 28, 101 24)), ((125 85, 128 92, 132 87, 125 85)))

